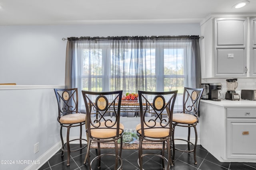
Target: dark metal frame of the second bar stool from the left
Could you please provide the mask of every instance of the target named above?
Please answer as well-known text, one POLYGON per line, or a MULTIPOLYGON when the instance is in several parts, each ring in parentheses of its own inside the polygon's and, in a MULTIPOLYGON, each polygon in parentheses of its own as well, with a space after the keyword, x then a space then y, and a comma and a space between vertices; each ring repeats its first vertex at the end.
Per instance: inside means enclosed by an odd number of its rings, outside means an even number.
MULTIPOLYGON (((89 92, 82 90, 82 95, 84 98, 84 103, 86 106, 86 133, 88 135, 88 147, 87 147, 87 153, 86 157, 84 159, 84 164, 88 161, 89 169, 92 169, 92 162, 94 160, 98 159, 98 169, 100 169, 100 162, 101 157, 105 155, 114 155, 115 156, 115 170, 120 170, 122 168, 122 135, 124 133, 124 129, 120 128, 120 107, 121 107, 121 98, 122 98, 122 90, 120 91, 114 91, 114 92, 89 92), (114 95, 115 97, 113 99, 110 99, 111 102, 108 102, 108 99, 106 100, 106 107, 100 108, 98 106, 97 102, 94 102, 89 97, 92 96, 98 96, 98 98, 105 98, 108 95, 114 95), (105 96, 105 97, 104 97, 105 96), (118 100, 119 99, 119 100, 118 100), (118 104, 116 104, 116 101, 118 101, 118 104), (94 113, 92 113, 94 112, 94 113), (104 115, 108 112, 114 113, 112 117, 114 117, 114 121, 112 119, 108 119, 107 117, 104 117, 104 115), (92 117, 94 117, 93 114, 96 114, 95 120, 92 120, 92 117), (100 127, 101 123, 104 122, 105 127, 100 127), (112 125, 107 125, 107 122, 112 123, 112 125), (116 125, 116 127, 114 127, 116 125), (93 129, 116 129, 116 135, 113 138, 98 138, 93 137, 91 131, 93 129), (122 133, 120 134, 120 130, 122 133), (120 139, 120 152, 118 153, 118 139, 120 139), (97 143, 98 147, 96 149, 97 156, 90 162, 90 145, 91 142, 94 141, 97 143), (101 154, 100 152, 100 143, 109 143, 114 142, 115 144, 115 154, 101 154), (120 165, 118 166, 118 162, 120 162, 120 165)), ((111 118, 112 118, 111 117, 111 118)))

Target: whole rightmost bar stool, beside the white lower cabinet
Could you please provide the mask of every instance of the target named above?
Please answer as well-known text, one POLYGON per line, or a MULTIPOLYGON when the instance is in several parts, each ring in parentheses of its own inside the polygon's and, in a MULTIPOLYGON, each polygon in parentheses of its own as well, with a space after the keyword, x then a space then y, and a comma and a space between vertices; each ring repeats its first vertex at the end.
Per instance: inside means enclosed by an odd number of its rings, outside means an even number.
POLYGON ((199 110, 199 104, 200 104, 200 100, 201 100, 203 91, 204 91, 203 88, 186 88, 186 87, 184 87, 183 111, 181 113, 174 113, 173 117, 172 117, 172 127, 173 127, 172 158, 173 158, 173 160, 174 160, 174 156, 175 156, 175 150, 179 150, 182 152, 193 152, 194 153, 194 164, 197 164, 197 161, 196 161, 196 144, 197 144, 196 125, 198 123, 198 110, 199 110), (188 127, 188 140, 174 139, 174 132, 175 132, 176 126, 188 127), (190 127, 193 127, 194 131, 195 131, 195 143, 192 143, 190 141, 190 127), (181 150, 181 149, 175 148, 175 144, 174 144, 175 140, 186 141, 188 144, 188 150, 181 150), (190 144, 192 146, 194 146, 193 149, 191 149, 191 150, 190 150, 190 144))

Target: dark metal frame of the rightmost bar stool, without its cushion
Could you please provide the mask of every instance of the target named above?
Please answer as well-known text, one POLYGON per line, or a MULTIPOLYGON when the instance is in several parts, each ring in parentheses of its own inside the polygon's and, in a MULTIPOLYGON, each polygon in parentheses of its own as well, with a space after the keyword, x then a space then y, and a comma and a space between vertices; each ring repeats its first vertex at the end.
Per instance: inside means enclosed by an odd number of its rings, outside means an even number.
POLYGON ((196 131, 196 125, 198 123, 198 110, 199 110, 199 104, 201 100, 201 96, 203 93, 203 88, 187 88, 184 87, 184 94, 183 94, 183 111, 180 113, 184 114, 191 114, 196 117, 196 122, 192 124, 186 124, 186 123, 180 123, 180 122, 173 122, 172 127, 173 127, 173 133, 172 133, 172 147, 173 147, 173 154, 172 158, 174 161, 174 156, 175 156, 175 150, 179 150, 182 152, 193 152, 194 155, 194 164, 197 164, 196 161, 196 145, 197 145, 197 131, 196 131), (196 94, 196 96, 195 96, 196 94), (185 139, 175 139, 174 138, 174 131, 175 127, 180 126, 180 127, 188 127, 188 140, 185 139), (195 143, 192 143, 190 141, 190 127, 194 128, 195 131, 195 143), (175 143, 174 140, 181 140, 187 142, 188 145, 188 150, 181 150, 178 148, 175 148, 175 143), (190 149, 190 144, 193 146, 193 149, 190 149))

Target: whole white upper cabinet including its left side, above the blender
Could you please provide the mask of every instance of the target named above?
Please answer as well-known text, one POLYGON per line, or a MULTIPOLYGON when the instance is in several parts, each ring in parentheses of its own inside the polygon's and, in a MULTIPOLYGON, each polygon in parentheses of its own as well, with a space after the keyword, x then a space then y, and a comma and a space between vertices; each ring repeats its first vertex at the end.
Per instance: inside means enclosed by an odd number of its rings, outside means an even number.
POLYGON ((202 78, 247 76, 247 25, 247 17, 210 17, 201 22, 202 78))

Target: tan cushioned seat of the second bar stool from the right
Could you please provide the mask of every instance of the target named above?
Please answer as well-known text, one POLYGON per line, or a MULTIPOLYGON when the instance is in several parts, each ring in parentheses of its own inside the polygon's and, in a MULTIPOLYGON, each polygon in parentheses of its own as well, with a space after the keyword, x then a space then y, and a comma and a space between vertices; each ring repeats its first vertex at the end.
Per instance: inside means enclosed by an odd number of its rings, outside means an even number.
MULTIPOLYGON (((149 122, 147 124, 148 125, 154 125, 153 122, 149 122)), ((148 127, 148 126, 144 123, 144 135, 146 137, 163 138, 163 137, 168 137, 169 136, 169 131, 170 131, 169 126, 167 126, 167 128, 163 128, 160 125, 160 123, 157 122, 156 126, 154 128, 145 129, 146 127, 148 127)), ((138 124, 136 126, 136 131, 138 131, 140 128, 141 128, 141 124, 138 124)), ((139 130, 138 133, 141 134, 141 130, 139 130)))

